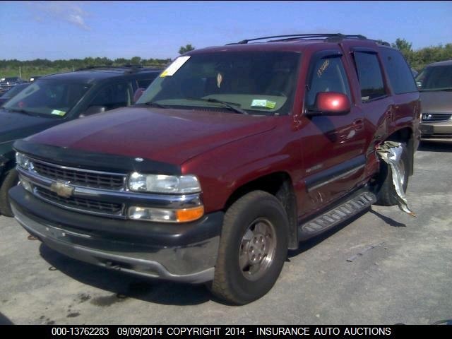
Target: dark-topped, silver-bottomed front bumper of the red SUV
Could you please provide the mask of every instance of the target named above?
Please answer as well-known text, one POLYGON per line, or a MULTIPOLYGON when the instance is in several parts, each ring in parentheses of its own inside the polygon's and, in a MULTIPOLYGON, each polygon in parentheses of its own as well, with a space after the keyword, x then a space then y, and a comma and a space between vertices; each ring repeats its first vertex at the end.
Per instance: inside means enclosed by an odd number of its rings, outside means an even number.
POLYGON ((9 191, 16 220, 62 254, 127 273, 185 283, 213 279, 223 213, 186 224, 160 224, 84 215, 9 191))

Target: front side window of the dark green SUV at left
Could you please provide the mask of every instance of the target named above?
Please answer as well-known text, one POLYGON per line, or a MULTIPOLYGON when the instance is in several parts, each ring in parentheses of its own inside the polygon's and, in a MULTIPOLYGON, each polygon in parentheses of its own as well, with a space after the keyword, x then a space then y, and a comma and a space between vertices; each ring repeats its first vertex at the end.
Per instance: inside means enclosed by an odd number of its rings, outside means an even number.
POLYGON ((115 83, 102 88, 90 106, 105 106, 108 109, 131 105, 131 88, 129 83, 115 83))

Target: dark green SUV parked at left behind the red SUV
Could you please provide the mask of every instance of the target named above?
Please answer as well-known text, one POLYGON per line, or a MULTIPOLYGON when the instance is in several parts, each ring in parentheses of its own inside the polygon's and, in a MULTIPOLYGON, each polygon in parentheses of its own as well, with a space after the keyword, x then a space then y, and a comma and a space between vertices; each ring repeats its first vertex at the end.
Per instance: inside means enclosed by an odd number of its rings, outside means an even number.
POLYGON ((138 66, 92 67, 43 76, 0 108, 0 214, 13 216, 7 192, 18 182, 13 142, 51 126, 133 104, 160 73, 138 66))

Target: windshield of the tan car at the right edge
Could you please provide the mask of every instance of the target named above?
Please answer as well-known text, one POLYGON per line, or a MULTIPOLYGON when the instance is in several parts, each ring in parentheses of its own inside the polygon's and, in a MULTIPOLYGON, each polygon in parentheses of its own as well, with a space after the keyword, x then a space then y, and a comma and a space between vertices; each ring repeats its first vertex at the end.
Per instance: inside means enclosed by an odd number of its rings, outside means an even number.
POLYGON ((452 90, 452 65, 430 66, 416 78, 420 90, 452 90))

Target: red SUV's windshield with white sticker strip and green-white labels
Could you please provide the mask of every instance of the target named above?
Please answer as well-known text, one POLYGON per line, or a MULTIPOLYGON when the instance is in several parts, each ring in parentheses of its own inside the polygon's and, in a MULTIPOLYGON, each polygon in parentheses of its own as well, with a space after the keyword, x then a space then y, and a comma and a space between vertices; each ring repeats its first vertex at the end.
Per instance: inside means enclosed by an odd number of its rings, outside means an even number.
POLYGON ((137 104, 288 114, 295 95, 299 59, 300 54, 295 52, 221 52, 179 57, 137 104))

